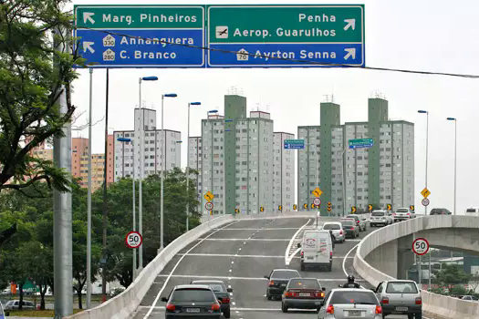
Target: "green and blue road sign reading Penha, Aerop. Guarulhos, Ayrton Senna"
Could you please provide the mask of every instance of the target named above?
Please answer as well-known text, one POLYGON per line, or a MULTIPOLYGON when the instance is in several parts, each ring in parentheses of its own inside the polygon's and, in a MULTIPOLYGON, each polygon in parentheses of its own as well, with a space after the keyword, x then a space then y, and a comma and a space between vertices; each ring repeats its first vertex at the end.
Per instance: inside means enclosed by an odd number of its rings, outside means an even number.
POLYGON ((207 67, 364 67, 364 5, 206 10, 207 67))

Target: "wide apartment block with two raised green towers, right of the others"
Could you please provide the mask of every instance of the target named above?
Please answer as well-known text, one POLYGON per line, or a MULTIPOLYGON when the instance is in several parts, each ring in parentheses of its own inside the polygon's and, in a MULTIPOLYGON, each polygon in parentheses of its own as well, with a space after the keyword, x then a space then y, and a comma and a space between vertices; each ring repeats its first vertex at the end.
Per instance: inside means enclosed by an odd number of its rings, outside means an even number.
POLYGON ((391 204, 394 209, 414 203, 414 125, 390 121, 388 101, 382 98, 369 99, 368 119, 340 125, 339 106, 321 103, 321 125, 298 127, 298 139, 305 139, 298 154, 301 208, 312 202, 315 185, 323 190, 322 211, 328 201, 341 214, 352 206, 367 210, 369 204, 391 204), (349 139, 373 139, 374 146, 349 149, 349 139))

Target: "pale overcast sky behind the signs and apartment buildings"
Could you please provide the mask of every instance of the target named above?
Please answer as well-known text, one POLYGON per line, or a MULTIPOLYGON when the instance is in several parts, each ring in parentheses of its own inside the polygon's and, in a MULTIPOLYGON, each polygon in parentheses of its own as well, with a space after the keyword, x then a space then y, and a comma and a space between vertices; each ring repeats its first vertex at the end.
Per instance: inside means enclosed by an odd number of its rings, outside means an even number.
MULTIPOLYGON (((136 1, 75 1, 74 4, 125 4, 136 1)), ((259 4, 241 1, 241 4, 259 4)), ((261 4, 295 4, 263 0, 261 4)), ((307 1, 303 4, 351 4, 353 1, 307 1)), ((141 4, 238 4, 237 1, 149 1, 141 4)), ((479 2, 470 1, 363 1, 365 5, 366 65, 479 75, 479 2)), ((83 114, 77 124, 86 123, 89 108, 89 72, 79 70, 74 82, 73 102, 83 114)), ((94 122, 105 113, 105 70, 93 76, 94 122)), ((334 95, 341 106, 341 122, 366 121, 368 98, 389 100, 390 119, 415 124, 416 211, 423 212, 420 191, 424 187, 426 118, 418 109, 430 112, 428 188, 431 206, 453 210, 453 122, 457 126, 457 211, 479 207, 479 79, 403 74, 388 71, 343 68, 254 68, 194 69, 144 68, 110 69, 109 130, 133 129, 133 108, 138 106, 138 77, 157 76, 157 82, 142 85, 142 100, 148 108, 160 109, 161 94, 177 93, 165 102, 165 129, 182 131, 186 141, 187 104, 192 108, 191 136, 201 135, 201 118, 209 109, 224 113, 224 95, 232 87, 247 98, 249 110, 271 113, 275 131, 297 134, 297 126, 318 125, 319 103, 334 95)), ((157 123, 160 126, 160 112, 157 123)), ((103 152, 104 121, 93 129, 93 150, 103 152)), ((74 137, 88 138, 88 130, 74 137)), ((186 165, 186 143, 182 144, 182 166, 186 165)))

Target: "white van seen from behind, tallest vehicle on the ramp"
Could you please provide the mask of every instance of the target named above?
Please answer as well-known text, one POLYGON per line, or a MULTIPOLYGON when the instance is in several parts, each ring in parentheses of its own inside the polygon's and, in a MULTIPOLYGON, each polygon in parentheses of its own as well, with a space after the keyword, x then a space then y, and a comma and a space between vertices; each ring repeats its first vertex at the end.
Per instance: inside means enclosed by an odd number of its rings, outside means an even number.
POLYGON ((307 266, 326 266, 328 272, 333 265, 333 244, 328 231, 305 231, 301 242, 301 270, 307 266))

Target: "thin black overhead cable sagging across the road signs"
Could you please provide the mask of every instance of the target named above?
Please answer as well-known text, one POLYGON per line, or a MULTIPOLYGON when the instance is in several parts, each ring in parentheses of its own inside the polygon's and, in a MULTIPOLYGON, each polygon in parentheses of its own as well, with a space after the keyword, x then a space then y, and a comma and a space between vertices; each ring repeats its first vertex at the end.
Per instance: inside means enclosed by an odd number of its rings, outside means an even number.
MULTIPOLYGON (((130 35, 125 35, 125 34, 118 33, 118 32, 111 32, 111 31, 108 31, 108 30, 92 29, 92 28, 89 28, 89 27, 81 27, 81 29, 97 31, 97 32, 101 32, 101 33, 112 35, 112 36, 126 36, 126 37, 134 38, 134 39, 142 39, 142 40, 152 41, 152 39, 150 37, 130 36, 130 35)), ((249 57, 263 57, 263 58, 269 58, 269 59, 284 60, 284 61, 304 63, 304 64, 309 64, 309 65, 318 65, 318 66, 324 66, 324 67, 360 68, 360 69, 368 69, 368 70, 374 70, 374 71, 401 72, 401 73, 422 74, 422 75, 432 75, 432 76, 479 78, 479 75, 473 75, 473 74, 420 71, 420 70, 411 70, 411 69, 393 68, 393 67, 349 66, 349 65, 346 65, 346 64, 325 63, 325 62, 317 62, 317 61, 310 61, 310 60, 305 60, 305 59, 295 59, 295 58, 288 58, 288 57, 266 57, 266 56, 263 56, 263 55, 258 55, 256 53, 243 53, 243 52, 224 50, 224 49, 220 49, 220 48, 213 48, 213 47, 207 47, 207 46, 194 46, 194 45, 189 45, 189 44, 173 43, 173 42, 165 41, 165 40, 156 40, 155 39, 155 42, 159 42, 161 44, 166 44, 166 45, 172 45, 172 46, 185 46, 185 47, 191 47, 191 48, 196 48, 196 49, 200 49, 200 50, 217 51, 217 52, 229 53, 229 54, 242 54, 242 55, 247 55, 249 57)), ((281 66, 277 66, 277 67, 281 67, 281 66)))

